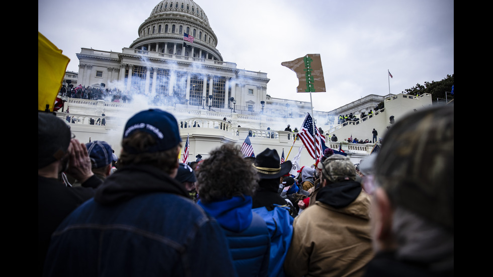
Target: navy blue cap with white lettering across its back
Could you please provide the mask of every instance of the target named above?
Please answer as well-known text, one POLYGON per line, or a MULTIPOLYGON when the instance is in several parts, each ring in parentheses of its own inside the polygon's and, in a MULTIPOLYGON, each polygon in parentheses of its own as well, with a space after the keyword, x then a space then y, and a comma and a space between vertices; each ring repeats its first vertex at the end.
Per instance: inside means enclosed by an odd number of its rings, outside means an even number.
MULTIPOLYGON (((172 114, 159 109, 149 109, 131 117, 125 125, 123 138, 136 131, 149 133, 156 140, 156 145, 149 147, 144 152, 166 151, 177 146, 182 141, 176 118, 172 114)), ((125 151, 129 150, 131 151, 131 149, 125 149, 125 151)))

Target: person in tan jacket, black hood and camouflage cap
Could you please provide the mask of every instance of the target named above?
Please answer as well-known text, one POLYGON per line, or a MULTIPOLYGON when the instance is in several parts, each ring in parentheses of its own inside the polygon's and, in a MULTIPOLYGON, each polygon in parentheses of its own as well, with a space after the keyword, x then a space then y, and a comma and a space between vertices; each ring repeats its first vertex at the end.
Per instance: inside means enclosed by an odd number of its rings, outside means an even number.
POLYGON ((293 222, 284 271, 287 276, 362 276, 373 258, 370 197, 343 155, 322 163, 316 202, 293 222))

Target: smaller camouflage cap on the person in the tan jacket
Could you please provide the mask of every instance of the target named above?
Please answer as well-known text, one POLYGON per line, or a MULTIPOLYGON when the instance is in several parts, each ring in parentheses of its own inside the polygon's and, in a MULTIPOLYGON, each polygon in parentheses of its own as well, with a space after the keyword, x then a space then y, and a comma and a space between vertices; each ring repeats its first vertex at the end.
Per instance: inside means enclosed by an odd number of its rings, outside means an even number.
POLYGON ((356 167, 343 155, 334 154, 323 161, 322 174, 331 182, 356 180, 356 167))

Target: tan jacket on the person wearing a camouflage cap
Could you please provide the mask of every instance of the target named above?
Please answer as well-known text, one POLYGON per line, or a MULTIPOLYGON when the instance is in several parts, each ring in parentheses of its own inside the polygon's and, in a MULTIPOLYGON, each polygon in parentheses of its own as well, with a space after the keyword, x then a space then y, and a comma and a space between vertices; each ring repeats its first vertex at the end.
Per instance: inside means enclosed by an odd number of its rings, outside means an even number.
POLYGON ((362 276, 372 259, 370 198, 336 209, 320 201, 294 219, 286 276, 362 276))

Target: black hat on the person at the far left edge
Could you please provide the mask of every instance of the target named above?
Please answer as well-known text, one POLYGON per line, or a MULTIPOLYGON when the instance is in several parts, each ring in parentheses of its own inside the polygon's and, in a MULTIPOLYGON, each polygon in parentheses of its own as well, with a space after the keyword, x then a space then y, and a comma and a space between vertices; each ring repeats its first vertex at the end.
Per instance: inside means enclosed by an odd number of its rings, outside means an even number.
POLYGON ((70 128, 53 113, 38 112, 38 169, 61 159, 70 144, 70 128))

